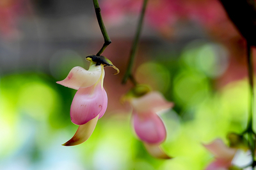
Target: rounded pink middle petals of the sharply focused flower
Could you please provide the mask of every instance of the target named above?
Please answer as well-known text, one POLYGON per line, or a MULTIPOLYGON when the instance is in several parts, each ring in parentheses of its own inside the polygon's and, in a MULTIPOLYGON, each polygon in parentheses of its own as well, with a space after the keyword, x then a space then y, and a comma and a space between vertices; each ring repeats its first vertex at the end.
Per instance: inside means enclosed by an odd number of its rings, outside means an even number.
POLYGON ((103 115, 107 107, 104 100, 106 100, 106 91, 101 88, 100 81, 95 86, 79 88, 70 108, 71 121, 76 125, 83 125, 97 115, 103 115))

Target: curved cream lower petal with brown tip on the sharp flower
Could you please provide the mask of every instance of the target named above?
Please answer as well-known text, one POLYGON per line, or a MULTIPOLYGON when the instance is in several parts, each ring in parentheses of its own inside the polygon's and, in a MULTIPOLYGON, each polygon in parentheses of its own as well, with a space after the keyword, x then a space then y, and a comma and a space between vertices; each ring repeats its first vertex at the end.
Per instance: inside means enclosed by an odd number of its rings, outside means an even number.
POLYGON ((97 125, 99 115, 94 119, 88 121, 84 125, 80 125, 76 131, 76 134, 67 143, 62 144, 63 146, 74 146, 77 144, 84 143, 92 135, 93 130, 97 125))

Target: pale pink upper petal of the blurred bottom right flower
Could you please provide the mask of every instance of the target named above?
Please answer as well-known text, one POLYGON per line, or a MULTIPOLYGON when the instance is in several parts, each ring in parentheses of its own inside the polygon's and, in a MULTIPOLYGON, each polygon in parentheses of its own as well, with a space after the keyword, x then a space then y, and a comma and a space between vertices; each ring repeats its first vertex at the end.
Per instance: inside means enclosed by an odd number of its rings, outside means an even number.
POLYGON ((204 147, 211 151, 211 153, 216 157, 222 160, 232 160, 236 154, 236 149, 229 148, 226 146, 221 139, 215 139, 210 144, 204 144, 204 147))

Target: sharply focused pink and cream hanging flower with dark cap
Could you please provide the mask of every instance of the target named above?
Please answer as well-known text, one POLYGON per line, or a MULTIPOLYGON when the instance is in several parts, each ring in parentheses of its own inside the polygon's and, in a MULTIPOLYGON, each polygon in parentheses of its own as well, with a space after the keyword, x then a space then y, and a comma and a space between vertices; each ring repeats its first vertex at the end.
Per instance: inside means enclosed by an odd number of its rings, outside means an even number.
POLYGON ((119 73, 118 68, 104 56, 88 56, 90 68, 85 70, 76 66, 70 70, 68 76, 58 84, 77 89, 70 107, 71 121, 79 125, 76 134, 64 146, 73 146, 86 141, 108 106, 108 96, 103 88, 104 66, 112 66, 119 73))

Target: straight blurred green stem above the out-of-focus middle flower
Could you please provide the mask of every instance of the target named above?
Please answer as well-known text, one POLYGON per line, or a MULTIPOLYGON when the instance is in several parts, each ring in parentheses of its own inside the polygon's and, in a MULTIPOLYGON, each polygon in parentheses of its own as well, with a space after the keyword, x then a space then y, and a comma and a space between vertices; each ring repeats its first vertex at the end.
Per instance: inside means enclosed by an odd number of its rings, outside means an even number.
POLYGON ((142 25, 143 25, 143 20, 144 20, 144 16, 145 16, 147 3, 148 3, 148 0, 143 1, 143 6, 142 6, 142 9, 141 9, 141 13, 140 13, 140 20, 138 22, 136 35, 135 35, 134 41, 132 43, 132 49, 131 49, 131 53, 130 53, 129 63, 128 63, 127 70, 125 72, 124 78, 122 80, 122 84, 125 84, 127 82, 128 78, 131 78, 132 66, 133 66, 133 63, 134 63, 134 58, 135 58, 136 51, 138 49, 138 42, 139 42, 140 35, 141 35, 141 29, 142 29, 142 25))

